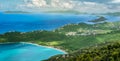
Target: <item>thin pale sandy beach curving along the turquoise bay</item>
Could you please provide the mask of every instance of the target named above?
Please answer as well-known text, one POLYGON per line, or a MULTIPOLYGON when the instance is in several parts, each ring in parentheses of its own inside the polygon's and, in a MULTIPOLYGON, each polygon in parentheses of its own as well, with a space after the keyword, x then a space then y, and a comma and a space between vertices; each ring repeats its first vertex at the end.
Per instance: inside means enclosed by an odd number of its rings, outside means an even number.
POLYGON ((58 48, 54 48, 54 47, 51 47, 51 46, 43 46, 43 45, 39 45, 39 44, 36 44, 36 43, 30 43, 30 42, 3 42, 3 43, 0 43, 0 44, 9 44, 9 43, 25 43, 25 44, 32 44, 32 45, 35 45, 35 46, 41 46, 41 47, 45 47, 45 48, 50 48, 50 49, 55 49, 55 50, 58 50, 60 52, 63 52, 64 54, 68 54, 66 51, 64 50, 61 50, 61 49, 58 49, 58 48))

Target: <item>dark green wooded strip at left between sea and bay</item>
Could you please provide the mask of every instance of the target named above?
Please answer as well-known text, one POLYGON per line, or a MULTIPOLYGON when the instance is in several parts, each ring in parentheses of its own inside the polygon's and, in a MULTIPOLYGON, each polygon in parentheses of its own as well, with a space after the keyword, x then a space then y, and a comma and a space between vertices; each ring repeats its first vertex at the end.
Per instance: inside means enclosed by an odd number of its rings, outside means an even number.
POLYGON ((25 42, 25 41, 60 41, 66 36, 56 32, 49 31, 34 31, 34 32, 7 32, 0 35, 0 38, 5 39, 6 42, 25 42))

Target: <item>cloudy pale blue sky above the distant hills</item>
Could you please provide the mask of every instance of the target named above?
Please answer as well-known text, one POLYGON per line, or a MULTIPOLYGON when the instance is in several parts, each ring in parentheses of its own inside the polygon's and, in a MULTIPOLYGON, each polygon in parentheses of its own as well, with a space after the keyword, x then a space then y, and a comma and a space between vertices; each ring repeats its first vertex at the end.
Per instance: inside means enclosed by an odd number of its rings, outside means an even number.
POLYGON ((120 0, 0 0, 0 11, 60 11, 86 13, 120 12, 120 0))

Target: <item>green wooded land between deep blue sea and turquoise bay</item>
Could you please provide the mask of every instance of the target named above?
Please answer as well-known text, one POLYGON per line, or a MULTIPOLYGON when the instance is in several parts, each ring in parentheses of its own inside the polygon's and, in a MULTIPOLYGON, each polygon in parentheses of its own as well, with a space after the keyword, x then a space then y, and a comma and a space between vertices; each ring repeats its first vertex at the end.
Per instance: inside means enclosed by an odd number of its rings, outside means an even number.
POLYGON ((73 52, 106 41, 119 41, 119 30, 120 22, 69 24, 54 31, 7 32, 0 35, 0 42, 31 42, 73 52))

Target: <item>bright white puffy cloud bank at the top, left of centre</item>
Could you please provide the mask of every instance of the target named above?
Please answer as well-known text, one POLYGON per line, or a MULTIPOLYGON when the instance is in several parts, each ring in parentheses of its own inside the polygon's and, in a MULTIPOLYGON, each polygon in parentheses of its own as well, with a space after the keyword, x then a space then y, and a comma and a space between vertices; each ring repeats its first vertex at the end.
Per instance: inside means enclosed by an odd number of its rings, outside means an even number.
POLYGON ((71 1, 64 0, 24 0, 25 4, 20 6, 24 7, 37 7, 37 8, 72 8, 71 1))

